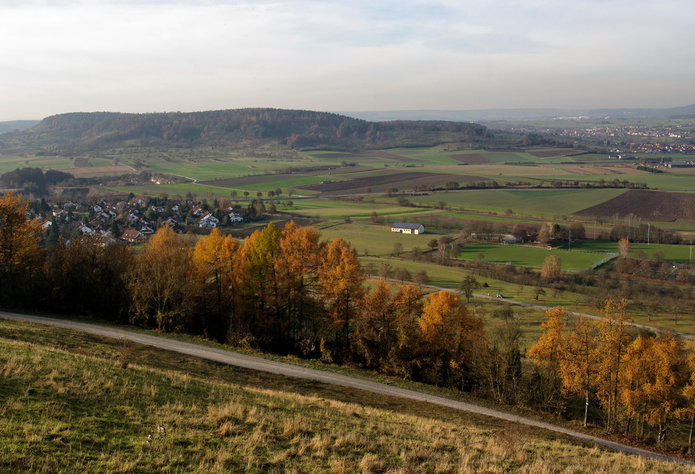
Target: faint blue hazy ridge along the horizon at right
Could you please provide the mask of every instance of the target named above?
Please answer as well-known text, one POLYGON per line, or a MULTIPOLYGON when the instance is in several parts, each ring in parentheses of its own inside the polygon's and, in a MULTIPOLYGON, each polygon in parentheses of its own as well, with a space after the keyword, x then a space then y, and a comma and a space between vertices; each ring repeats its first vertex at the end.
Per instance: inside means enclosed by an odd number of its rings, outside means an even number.
POLYGON ((589 118, 669 118, 695 114, 695 104, 671 108, 498 108, 470 111, 344 111, 340 112, 363 120, 543 120, 562 117, 589 118))

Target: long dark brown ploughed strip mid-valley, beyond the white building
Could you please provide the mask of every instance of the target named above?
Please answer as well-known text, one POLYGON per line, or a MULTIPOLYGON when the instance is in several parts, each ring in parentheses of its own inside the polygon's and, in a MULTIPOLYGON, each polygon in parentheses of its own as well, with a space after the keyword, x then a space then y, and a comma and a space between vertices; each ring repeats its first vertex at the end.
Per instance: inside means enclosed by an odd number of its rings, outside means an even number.
POLYGON ((384 193, 389 188, 396 188, 401 191, 413 190, 415 186, 443 186, 448 181, 465 183, 466 181, 483 181, 477 176, 466 176, 461 174, 444 174, 430 172, 404 172, 395 174, 382 174, 379 176, 368 176, 349 181, 336 181, 334 183, 309 184, 297 186, 298 189, 317 191, 323 195, 338 194, 357 194, 366 193, 370 189, 374 193, 384 193))

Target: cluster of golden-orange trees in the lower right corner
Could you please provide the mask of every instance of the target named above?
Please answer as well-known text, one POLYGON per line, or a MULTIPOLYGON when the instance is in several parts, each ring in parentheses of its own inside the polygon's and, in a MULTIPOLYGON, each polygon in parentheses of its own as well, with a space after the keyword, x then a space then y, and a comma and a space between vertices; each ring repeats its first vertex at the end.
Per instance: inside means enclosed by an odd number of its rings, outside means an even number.
MULTIPOLYGON (((543 335, 528 351, 537 363, 546 393, 574 395, 600 407, 609 434, 663 443, 678 420, 690 425, 688 452, 695 427, 695 351, 671 333, 635 334, 627 300, 607 300, 601 320, 580 318, 567 331, 567 312, 546 312, 543 335)), ((559 398, 556 398, 559 400, 559 398)))

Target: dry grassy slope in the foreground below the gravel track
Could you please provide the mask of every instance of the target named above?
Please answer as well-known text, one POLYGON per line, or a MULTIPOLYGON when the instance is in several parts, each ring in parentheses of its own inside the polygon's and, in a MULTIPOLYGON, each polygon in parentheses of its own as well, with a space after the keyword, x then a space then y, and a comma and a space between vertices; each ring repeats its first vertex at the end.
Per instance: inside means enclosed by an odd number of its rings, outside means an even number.
POLYGON ((689 472, 445 407, 0 320, 13 472, 689 472))

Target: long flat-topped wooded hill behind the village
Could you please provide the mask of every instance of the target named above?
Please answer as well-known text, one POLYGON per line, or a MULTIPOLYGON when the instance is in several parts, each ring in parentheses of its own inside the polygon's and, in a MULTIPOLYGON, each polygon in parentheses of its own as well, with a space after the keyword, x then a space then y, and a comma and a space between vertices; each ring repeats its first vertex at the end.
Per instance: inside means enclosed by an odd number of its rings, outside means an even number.
POLYGON ((250 146, 266 142, 295 149, 363 150, 433 146, 484 138, 486 128, 445 120, 368 122, 346 115, 275 108, 193 113, 65 113, 44 118, 6 147, 51 148, 74 154, 122 146, 250 146))

